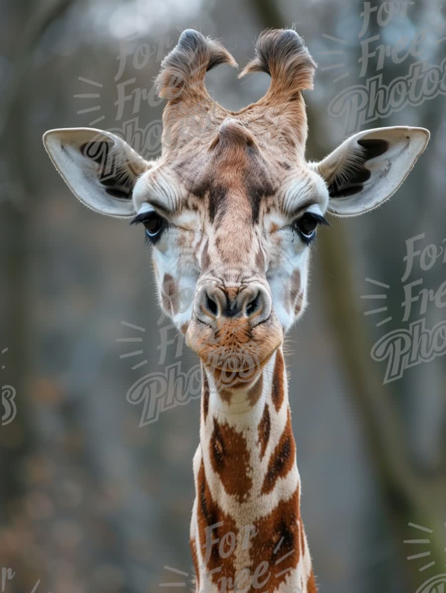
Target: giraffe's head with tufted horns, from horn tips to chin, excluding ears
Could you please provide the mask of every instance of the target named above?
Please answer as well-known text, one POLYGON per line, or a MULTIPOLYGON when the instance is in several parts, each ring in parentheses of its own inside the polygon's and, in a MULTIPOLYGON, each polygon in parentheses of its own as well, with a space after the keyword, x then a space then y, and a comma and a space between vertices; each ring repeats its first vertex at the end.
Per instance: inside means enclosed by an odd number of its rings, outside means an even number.
POLYGON ((168 98, 163 154, 133 190, 162 307, 204 365, 237 387, 254 380, 303 311, 309 243, 328 203, 303 158, 299 89, 311 87, 315 63, 294 31, 272 33, 262 51, 245 71, 267 69, 271 88, 233 113, 204 87, 206 70, 232 56, 182 34, 158 77, 168 98))

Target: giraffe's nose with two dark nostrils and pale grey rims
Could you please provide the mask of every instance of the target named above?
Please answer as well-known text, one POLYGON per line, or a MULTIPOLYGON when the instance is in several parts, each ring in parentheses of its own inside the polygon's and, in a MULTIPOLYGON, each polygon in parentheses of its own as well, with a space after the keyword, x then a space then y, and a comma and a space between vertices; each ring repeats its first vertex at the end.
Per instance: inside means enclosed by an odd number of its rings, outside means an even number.
POLYGON ((258 282, 246 286, 224 287, 216 282, 204 284, 195 301, 197 317, 211 326, 226 320, 244 320, 255 327, 271 315, 271 297, 258 282))

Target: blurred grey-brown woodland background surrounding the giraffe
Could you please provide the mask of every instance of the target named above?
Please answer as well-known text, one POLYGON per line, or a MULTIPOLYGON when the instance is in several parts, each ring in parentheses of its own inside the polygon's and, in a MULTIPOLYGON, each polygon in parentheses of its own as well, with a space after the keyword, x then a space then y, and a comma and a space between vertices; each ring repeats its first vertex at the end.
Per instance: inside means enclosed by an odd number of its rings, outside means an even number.
MULTIPOLYGON (((391 88, 409 76, 410 86, 416 63, 444 71, 445 5, 373 7, 1 0, 2 591, 152 593, 190 580, 165 566, 191 573, 199 398, 146 423, 145 402, 126 394, 147 374, 164 376, 178 363, 187 373, 197 361, 158 309, 143 231, 84 208, 41 143, 47 129, 92 126, 121 133, 146 158, 159 154, 163 102, 153 79, 187 27, 221 39, 243 66, 261 30, 295 24, 319 63, 315 90, 305 93, 308 158, 361 127, 431 130, 389 203, 321 230, 310 307, 288 336, 287 365, 320 591, 415 593, 446 572, 445 349, 429 357, 428 337, 415 341, 424 358, 387 383, 388 359, 371 356, 390 331, 419 320, 432 330, 445 319, 441 295, 426 310, 414 302, 406 321, 402 308, 409 282, 421 279, 413 294, 432 296, 445 279, 445 88, 432 75, 425 87, 419 79, 414 104, 394 95, 389 107, 385 90, 370 98, 373 81, 391 88), (368 116, 354 111, 358 85, 369 89, 368 116), (418 235, 424 269, 415 257, 403 281, 406 241, 418 235), (414 539, 425 543, 405 543, 414 539)), ((207 75, 208 90, 228 109, 257 100, 269 84, 267 75, 236 75, 229 66, 207 75)), ((171 382, 169 395, 177 388, 171 382)))

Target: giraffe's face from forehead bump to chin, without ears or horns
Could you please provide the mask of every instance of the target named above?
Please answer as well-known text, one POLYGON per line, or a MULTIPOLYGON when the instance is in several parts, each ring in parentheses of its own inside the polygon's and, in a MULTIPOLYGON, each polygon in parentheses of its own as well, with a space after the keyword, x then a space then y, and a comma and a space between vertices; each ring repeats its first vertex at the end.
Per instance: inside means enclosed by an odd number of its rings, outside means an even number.
POLYGON ((189 345, 216 368, 247 370, 303 311, 328 190, 249 117, 224 119, 195 145, 137 181, 136 221, 153 245, 161 306, 189 345))

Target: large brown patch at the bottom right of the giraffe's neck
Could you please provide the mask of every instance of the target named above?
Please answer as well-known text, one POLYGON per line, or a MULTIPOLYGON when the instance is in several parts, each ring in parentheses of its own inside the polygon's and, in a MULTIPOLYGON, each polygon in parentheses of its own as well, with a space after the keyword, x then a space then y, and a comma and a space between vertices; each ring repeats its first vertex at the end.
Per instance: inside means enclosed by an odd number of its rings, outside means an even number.
MULTIPOLYGON (((268 582, 256 588, 256 591, 277 591, 288 578, 290 570, 295 569, 299 563, 299 517, 298 486, 289 500, 281 500, 267 517, 255 522, 258 533, 252 540, 251 554, 255 559, 255 566, 252 566, 251 573, 261 562, 266 562, 268 574, 271 575, 268 582)), ((262 579, 259 579, 259 584, 261 582, 262 579)))

